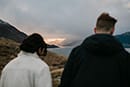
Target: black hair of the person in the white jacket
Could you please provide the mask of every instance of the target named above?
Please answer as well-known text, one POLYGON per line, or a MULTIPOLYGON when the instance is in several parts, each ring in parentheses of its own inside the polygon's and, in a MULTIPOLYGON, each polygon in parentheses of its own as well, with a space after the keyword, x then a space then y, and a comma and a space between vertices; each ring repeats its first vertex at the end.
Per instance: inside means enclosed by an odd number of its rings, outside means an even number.
POLYGON ((43 40, 42 36, 37 33, 29 35, 20 45, 20 50, 30 53, 38 53, 39 48, 44 48, 43 55, 45 56, 47 54, 47 44, 43 40))

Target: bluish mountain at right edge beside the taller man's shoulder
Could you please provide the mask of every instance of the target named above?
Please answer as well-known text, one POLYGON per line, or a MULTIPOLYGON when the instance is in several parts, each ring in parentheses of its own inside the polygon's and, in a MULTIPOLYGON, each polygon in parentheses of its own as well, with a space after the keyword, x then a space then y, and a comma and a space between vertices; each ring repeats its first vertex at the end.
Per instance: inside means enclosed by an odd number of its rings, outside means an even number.
POLYGON ((125 48, 130 48, 130 32, 125 32, 115 36, 125 48))

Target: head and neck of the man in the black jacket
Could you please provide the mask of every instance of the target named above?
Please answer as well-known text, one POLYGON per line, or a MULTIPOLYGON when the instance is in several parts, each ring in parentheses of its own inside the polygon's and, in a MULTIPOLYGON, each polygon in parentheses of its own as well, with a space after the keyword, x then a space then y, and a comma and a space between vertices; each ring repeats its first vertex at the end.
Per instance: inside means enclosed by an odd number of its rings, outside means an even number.
POLYGON ((108 33, 114 32, 115 24, 117 20, 111 17, 108 13, 102 13, 96 22, 95 33, 108 33))

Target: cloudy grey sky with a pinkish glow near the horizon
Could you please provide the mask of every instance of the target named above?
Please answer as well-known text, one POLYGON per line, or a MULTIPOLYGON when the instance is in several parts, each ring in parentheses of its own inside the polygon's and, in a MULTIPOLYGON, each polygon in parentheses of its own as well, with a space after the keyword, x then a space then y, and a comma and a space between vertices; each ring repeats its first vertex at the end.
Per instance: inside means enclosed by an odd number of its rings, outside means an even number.
POLYGON ((130 31, 130 0, 0 0, 0 19, 45 39, 83 39, 96 18, 108 12, 118 22, 114 34, 130 31))

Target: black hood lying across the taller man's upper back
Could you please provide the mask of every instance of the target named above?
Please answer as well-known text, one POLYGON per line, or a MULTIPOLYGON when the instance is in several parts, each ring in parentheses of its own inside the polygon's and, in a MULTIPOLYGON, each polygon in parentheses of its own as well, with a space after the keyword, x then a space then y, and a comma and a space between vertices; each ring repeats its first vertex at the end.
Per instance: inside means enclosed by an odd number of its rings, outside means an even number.
POLYGON ((92 35, 84 40, 82 46, 94 55, 114 55, 123 49, 122 44, 108 34, 92 35))

